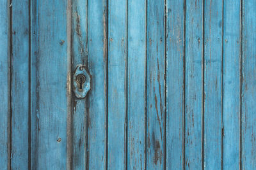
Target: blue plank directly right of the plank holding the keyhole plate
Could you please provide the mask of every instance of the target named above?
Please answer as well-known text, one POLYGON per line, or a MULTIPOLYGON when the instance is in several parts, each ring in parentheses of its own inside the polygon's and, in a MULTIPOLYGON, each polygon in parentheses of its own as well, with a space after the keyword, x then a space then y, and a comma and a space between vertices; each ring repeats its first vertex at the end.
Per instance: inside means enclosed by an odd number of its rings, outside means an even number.
POLYGON ((88 169, 106 169, 107 3, 88 2, 88 67, 92 90, 88 112, 88 169))

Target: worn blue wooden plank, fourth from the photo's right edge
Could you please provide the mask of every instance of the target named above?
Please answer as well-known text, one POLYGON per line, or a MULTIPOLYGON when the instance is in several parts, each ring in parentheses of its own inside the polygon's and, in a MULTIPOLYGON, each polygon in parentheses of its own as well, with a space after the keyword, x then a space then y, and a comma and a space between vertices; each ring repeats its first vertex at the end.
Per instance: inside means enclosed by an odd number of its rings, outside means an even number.
POLYGON ((202 168, 203 2, 186 2, 185 169, 202 168))

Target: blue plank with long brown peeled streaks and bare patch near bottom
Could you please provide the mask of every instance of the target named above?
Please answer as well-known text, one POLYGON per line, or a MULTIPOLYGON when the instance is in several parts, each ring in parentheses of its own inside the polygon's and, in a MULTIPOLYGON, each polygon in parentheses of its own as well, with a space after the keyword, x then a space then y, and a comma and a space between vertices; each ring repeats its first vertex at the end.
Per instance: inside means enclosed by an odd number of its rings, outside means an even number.
POLYGON ((164 168, 165 6, 147 2, 147 169, 164 168))

